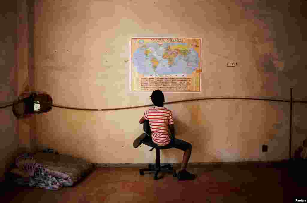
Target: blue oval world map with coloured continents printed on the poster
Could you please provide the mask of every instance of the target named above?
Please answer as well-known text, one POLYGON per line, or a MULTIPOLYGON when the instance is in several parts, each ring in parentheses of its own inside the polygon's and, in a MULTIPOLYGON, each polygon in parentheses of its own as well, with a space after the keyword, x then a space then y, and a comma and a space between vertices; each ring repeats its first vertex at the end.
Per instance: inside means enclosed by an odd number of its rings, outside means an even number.
POLYGON ((199 67, 199 54, 187 43, 142 44, 133 54, 133 63, 143 75, 192 74, 199 67))

